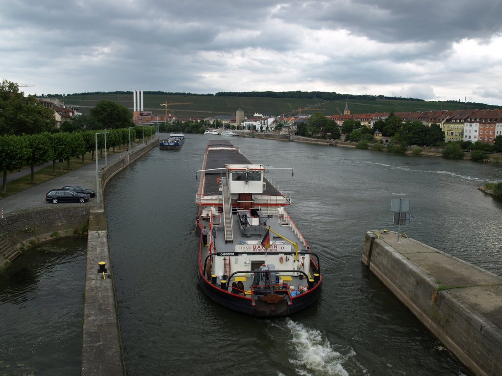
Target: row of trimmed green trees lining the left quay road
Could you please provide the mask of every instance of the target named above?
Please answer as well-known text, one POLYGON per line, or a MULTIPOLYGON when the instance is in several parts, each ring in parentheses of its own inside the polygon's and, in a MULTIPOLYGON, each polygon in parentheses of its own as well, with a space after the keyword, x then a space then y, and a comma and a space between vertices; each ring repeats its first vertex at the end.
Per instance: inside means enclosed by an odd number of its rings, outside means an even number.
MULTIPOLYGON (((103 131, 101 131, 103 132, 103 131)), ((70 167, 70 157, 82 156, 85 162, 85 154, 91 152, 91 160, 94 160, 96 147, 96 131, 83 132, 43 132, 39 134, 25 134, 22 136, 0 136, 0 171, 3 172, 4 180, 2 193, 7 192, 7 174, 29 165, 31 178, 34 182, 34 168, 52 161, 52 172, 56 174, 56 162, 66 160, 70 167)), ((134 141, 138 135, 148 136, 155 134, 154 127, 135 127, 123 129, 110 129, 106 133, 106 148, 127 145, 134 141)), ((97 148, 101 155, 104 149, 104 133, 97 134, 97 148)))

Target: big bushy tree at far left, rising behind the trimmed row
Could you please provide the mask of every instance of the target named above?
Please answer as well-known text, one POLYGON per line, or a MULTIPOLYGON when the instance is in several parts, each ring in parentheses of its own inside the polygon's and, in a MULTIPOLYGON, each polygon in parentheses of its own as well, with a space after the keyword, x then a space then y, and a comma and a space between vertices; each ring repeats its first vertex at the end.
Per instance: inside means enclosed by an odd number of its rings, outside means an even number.
POLYGON ((0 134, 35 134, 54 131, 54 110, 40 104, 35 95, 24 96, 18 84, 0 84, 0 134))

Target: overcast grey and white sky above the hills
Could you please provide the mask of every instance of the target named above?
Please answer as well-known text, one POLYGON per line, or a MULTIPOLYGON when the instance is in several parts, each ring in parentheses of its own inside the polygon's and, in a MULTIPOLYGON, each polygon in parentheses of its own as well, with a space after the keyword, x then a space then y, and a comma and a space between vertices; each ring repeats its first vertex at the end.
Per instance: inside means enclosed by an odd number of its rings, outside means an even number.
POLYGON ((11 0, 27 94, 334 91, 502 105, 499 0, 11 0))

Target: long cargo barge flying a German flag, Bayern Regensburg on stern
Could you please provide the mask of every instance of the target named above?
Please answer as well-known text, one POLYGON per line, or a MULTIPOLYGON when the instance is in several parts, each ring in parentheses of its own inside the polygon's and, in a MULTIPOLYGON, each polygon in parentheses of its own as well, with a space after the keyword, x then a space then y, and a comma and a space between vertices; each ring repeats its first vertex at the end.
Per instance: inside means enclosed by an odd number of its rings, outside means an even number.
POLYGON ((252 316, 281 317, 314 303, 319 257, 285 207, 289 194, 225 140, 207 143, 196 195, 198 282, 217 303, 252 316))

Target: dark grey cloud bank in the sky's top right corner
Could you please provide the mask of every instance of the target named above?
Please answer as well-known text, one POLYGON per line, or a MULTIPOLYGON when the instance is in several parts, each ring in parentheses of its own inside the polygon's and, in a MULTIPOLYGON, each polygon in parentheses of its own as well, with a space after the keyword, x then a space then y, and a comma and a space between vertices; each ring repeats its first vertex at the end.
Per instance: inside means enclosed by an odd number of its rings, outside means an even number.
POLYGON ((311 28, 341 28, 381 42, 448 43, 485 39, 502 30, 496 0, 290 2, 278 17, 298 22, 299 13, 311 28))

